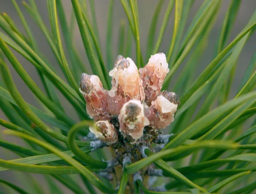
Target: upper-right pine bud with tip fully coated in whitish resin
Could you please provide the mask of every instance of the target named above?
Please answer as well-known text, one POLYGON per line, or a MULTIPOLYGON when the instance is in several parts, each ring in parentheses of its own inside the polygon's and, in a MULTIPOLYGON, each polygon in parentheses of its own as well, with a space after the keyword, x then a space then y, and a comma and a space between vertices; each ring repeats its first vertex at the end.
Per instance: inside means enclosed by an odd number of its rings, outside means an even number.
POLYGON ((145 102, 148 106, 161 93, 162 84, 169 72, 168 63, 164 53, 151 55, 148 64, 139 69, 143 81, 145 102))

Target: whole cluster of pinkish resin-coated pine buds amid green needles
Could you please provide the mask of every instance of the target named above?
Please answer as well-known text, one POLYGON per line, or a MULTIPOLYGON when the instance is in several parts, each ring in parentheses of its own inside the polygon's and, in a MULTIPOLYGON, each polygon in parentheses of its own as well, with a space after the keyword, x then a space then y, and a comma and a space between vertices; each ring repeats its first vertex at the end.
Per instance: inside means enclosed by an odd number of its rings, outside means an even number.
POLYGON ((165 54, 158 53, 139 70, 132 59, 119 55, 109 72, 111 90, 102 87, 98 76, 83 73, 80 91, 96 122, 90 131, 114 148, 150 145, 159 129, 174 121, 180 103, 174 92, 161 92, 168 72, 165 54))

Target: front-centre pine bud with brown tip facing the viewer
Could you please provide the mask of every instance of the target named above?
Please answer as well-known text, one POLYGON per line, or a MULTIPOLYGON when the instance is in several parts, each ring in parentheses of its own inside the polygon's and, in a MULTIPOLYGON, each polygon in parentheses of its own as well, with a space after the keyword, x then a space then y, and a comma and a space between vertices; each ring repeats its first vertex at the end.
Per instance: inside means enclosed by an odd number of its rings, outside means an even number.
POLYGON ((143 129, 149 124, 144 115, 144 106, 139 100, 130 100, 126 102, 119 114, 119 131, 123 134, 130 135, 136 142, 143 135, 143 129))

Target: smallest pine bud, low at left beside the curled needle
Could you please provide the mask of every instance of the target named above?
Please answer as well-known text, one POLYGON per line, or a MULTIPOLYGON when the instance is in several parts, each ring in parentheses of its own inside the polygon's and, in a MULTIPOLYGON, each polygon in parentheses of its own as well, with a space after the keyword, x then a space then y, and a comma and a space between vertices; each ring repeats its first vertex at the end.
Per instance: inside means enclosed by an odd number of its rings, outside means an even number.
POLYGON ((116 143, 118 139, 117 131, 109 121, 97 121, 95 126, 90 126, 89 129, 90 132, 95 134, 96 138, 106 143, 113 144, 116 143))

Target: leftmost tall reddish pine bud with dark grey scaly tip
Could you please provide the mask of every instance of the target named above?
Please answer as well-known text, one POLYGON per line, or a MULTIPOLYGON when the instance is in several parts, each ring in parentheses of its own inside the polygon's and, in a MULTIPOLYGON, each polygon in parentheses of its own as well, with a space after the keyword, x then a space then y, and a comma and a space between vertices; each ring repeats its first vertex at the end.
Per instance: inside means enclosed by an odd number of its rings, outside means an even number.
POLYGON ((80 92, 86 101, 86 111, 95 121, 108 120, 107 92, 102 87, 100 78, 83 73, 79 82, 80 92))

